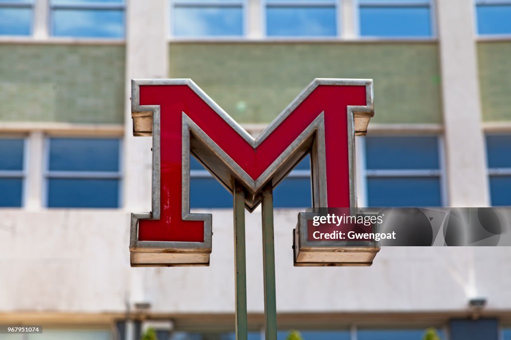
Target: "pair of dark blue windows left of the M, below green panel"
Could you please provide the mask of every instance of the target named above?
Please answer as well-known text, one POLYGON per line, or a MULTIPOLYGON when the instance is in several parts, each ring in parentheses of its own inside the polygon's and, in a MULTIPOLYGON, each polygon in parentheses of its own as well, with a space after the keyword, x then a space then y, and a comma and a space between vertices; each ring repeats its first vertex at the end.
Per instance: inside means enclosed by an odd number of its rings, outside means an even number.
MULTIPOLYGON (((0 206, 23 205, 25 144, 22 138, 0 139, 0 206)), ((120 147, 117 138, 48 138, 45 206, 119 207, 120 147)))

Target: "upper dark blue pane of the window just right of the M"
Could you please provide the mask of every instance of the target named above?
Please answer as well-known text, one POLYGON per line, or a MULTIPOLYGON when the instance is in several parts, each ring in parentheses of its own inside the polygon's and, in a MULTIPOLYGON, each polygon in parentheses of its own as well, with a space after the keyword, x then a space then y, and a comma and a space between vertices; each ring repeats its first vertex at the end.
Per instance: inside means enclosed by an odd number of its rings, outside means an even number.
POLYGON ((425 137, 366 137, 367 169, 438 169, 438 139, 425 137))

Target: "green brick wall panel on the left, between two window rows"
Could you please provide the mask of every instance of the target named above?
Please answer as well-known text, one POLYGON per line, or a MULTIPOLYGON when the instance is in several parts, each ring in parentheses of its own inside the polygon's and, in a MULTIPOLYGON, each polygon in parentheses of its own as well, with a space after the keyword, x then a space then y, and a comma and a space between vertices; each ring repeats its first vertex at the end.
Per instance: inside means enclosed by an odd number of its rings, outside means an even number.
POLYGON ((0 44, 0 120, 124 121, 125 48, 0 44))

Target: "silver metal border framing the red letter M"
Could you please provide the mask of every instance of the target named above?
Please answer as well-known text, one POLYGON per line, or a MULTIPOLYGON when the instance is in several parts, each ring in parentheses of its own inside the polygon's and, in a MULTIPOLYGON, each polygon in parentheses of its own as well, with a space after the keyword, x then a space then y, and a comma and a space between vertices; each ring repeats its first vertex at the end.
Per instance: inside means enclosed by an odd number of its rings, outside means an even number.
MULTIPOLYGON (((131 81, 131 110, 138 116, 152 117, 151 132, 135 132, 135 136, 153 136, 152 153, 152 211, 131 214, 130 251, 142 252, 211 252, 212 215, 190 213, 190 152, 206 166, 231 192, 235 181, 245 187, 245 206, 253 211, 262 200, 261 191, 271 181, 276 186, 291 169, 308 153, 311 153, 312 195, 314 207, 328 207, 326 155, 324 141, 324 114, 319 114, 313 122, 289 145, 289 147, 264 171, 253 180, 233 159, 231 159, 186 113, 182 113, 182 207, 183 220, 204 221, 203 242, 139 241, 138 220, 158 220, 160 218, 160 108, 159 105, 140 105, 141 85, 186 85, 210 106, 231 128, 233 128, 254 149, 258 147, 319 85, 365 86, 366 105, 348 106, 348 156, 350 174, 350 205, 356 207, 355 192, 355 153, 354 136, 365 134, 355 131, 355 118, 369 119, 374 115, 373 80, 370 79, 315 79, 280 113, 259 135, 253 138, 218 104, 216 104, 191 79, 135 79, 131 81)), ((134 128, 133 128, 134 129, 134 128)))

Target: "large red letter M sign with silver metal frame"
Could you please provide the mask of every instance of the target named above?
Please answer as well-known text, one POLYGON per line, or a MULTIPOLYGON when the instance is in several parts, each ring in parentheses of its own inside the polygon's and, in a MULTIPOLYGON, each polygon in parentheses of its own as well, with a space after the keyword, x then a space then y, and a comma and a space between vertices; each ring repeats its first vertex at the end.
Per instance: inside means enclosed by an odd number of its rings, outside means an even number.
MULTIPOLYGON (((152 211, 133 213, 132 265, 208 265, 212 215, 190 213, 190 154, 253 211, 311 155, 314 207, 356 207, 354 136, 366 132, 373 81, 315 79, 252 138, 189 79, 133 80, 135 136, 153 137, 152 211)), ((299 228, 306 227, 300 223, 299 228)))

